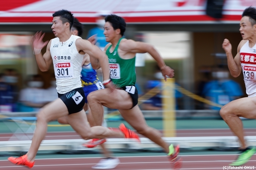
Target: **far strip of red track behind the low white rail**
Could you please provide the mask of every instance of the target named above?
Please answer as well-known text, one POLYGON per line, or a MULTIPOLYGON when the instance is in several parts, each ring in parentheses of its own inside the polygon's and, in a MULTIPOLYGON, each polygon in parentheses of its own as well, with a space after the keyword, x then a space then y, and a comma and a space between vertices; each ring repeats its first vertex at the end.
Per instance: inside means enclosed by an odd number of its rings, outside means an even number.
MULTIPOLYGON (((244 129, 245 136, 256 136, 255 129, 244 129)), ((177 137, 200 137, 200 136, 234 136, 230 129, 179 129, 176 131, 177 137)), ((0 134, 0 141, 17 141, 17 140, 31 140, 33 134, 0 134), (24 135, 26 137, 24 138, 24 135)), ((58 139, 81 139, 81 137, 74 132, 48 132, 44 140, 58 140, 58 139)))

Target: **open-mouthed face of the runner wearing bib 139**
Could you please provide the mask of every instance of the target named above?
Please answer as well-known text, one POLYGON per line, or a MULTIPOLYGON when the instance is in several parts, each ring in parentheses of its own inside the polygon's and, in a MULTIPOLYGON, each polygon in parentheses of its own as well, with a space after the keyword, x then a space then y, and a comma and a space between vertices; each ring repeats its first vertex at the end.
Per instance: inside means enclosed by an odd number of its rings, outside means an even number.
POLYGON ((255 25, 251 25, 249 17, 244 16, 241 19, 239 31, 242 34, 243 40, 248 40, 249 38, 255 36, 255 25))

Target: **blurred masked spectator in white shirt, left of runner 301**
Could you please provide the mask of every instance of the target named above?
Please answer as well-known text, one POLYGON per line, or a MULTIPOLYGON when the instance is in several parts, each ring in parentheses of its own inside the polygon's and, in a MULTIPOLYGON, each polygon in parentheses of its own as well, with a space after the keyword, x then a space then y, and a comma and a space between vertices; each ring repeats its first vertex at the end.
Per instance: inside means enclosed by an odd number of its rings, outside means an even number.
POLYGON ((49 101, 46 99, 46 90, 43 89, 43 79, 40 75, 34 75, 27 82, 28 87, 21 90, 20 111, 38 111, 49 101))

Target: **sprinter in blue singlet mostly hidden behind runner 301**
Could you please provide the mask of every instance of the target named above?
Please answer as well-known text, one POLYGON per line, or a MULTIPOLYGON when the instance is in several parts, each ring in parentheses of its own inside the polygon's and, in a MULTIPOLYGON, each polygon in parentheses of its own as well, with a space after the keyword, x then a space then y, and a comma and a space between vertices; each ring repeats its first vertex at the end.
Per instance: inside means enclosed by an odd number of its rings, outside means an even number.
MULTIPOLYGON (((79 37, 81 37, 81 35, 83 34, 83 25, 78 21, 77 18, 74 18, 74 24, 71 28, 71 34, 77 35, 79 37)), ((87 104, 86 98, 89 93, 99 89, 104 89, 104 86, 99 81, 96 70, 92 68, 90 56, 87 54, 84 56, 82 62, 81 81, 85 95, 85 104, 83 109, 84 111, 87 111, 86 116, 90 126, 96 126, 91 110, 87 104)), ((107 122, 104 121, 102 123, 102 126, 107 127, 107 122)), ((58 118, 58 122, 61 124, 68 124, 65 116, 58 118)), ((102 147, 102 153, 104 154, 105 158, 102 158, 96 165, 92 166, 93 169, 113 169, 120 163, 119 159, 113 157, 111 152, 109 152, 109 150, 105 147, 105 145, 103 144, 104 142, 106 142, 106 139, 92 139, 89 140, 87 143, 83 144, 85 147, 90 148, 95 147, 98 144, 100 144, 100 146, 102 147)))

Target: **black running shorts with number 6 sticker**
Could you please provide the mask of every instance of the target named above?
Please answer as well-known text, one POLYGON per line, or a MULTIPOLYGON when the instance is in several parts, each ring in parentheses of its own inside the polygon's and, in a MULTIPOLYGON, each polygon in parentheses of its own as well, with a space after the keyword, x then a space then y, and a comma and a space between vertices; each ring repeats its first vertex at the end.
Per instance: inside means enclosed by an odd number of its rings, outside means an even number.
POLYGON ((58 97, 67 106, 69 114, 77 113, 83 109, 85 103, 85 95, 82 87, 71 90, 65 94, 58 93, 58 97))

